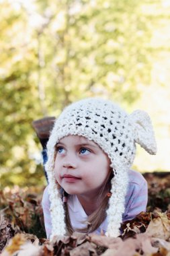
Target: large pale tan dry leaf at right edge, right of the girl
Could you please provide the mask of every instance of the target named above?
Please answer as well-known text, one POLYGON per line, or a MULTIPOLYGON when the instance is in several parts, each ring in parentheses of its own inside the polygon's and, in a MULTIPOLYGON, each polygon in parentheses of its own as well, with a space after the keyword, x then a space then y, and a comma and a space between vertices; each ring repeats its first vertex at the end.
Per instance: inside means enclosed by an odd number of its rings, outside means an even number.
POLYGON ((159 218, 151 220, 146 229, 146 234, 152 237, 163 238, 167 240, 170 237, 170 220, 165 213, 158 213, 159 218))

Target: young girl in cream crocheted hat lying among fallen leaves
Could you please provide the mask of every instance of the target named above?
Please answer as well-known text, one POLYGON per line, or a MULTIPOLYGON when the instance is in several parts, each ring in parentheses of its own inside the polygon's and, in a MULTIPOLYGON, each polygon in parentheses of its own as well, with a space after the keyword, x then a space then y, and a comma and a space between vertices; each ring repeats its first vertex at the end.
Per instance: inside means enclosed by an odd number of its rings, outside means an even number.
POLYGON ((144 111, 128 115, 99 98, 65 108, 47 143, 48 186, 42 198, 47 238, 74 231, 116 237, 122 222, 146 210, 146 181, 130 170, 135 143, 156 154, 144 111))

